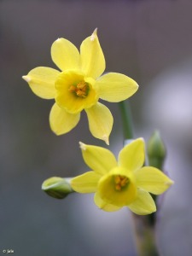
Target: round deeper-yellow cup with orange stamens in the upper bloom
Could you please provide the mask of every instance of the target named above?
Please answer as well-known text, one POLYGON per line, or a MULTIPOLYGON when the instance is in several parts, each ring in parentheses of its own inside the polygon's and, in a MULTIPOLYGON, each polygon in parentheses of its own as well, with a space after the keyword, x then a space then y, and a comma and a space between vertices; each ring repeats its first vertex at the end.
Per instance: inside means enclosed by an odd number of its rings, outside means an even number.
POLYGON ((55 81, 55 102, 67 113, 80 113, 98 102, 96 80, 77 70, 63 71, 55 81))

